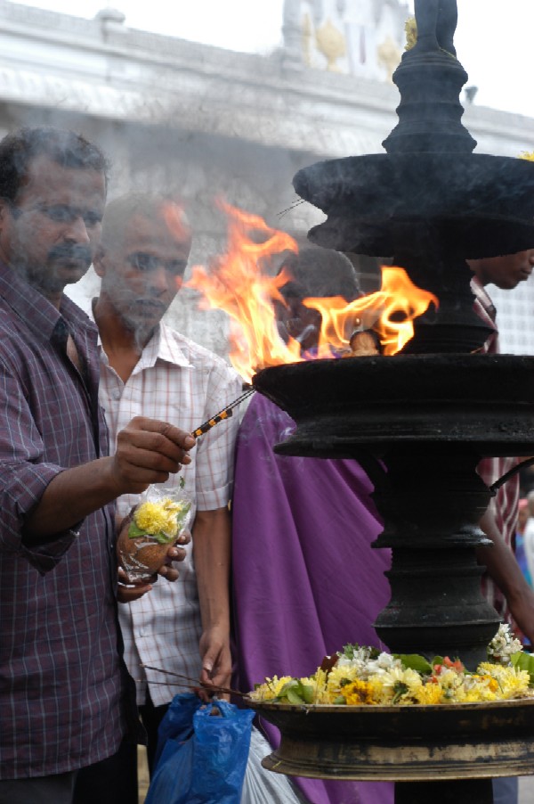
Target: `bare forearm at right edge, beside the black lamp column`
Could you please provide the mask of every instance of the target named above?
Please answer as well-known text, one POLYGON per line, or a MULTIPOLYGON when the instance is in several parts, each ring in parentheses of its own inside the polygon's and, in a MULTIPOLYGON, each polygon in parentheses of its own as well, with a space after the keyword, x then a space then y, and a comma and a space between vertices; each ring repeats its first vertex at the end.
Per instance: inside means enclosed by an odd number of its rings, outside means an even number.
POLYGON ((515 622, 534 643, 534 592, 525 580, 515 556, 498 530, 495 517, 487 511, 481 529, 493 542, 491 547, 478 547, 477 558, 485 564, 490 577, 505 595, 515 622))

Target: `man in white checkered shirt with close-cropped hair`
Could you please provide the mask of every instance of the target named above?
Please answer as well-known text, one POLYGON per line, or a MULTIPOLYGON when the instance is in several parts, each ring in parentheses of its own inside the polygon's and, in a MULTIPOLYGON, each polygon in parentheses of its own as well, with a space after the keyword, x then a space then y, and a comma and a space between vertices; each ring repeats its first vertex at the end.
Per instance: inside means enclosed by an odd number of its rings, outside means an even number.
MULTIPOLYGON (((134 414, 157 416, 184 431, 239 397, 242 381, 222 358, 161 322, 181 283, 191 234, 174 201, 131 194, 112 201, 94 260, 101 293, 93 300, 100 332, 100 401, 110 449, 134 414)), ((219 423, 190 451, 191 463, 168 482, 185 481, 192 498, 191 544, 178 572, 154 587, 126 588, 120 606, 125 660, 149 734, 150 766, 158 724, 175 693, 200 679, 228 686, 231 678, 228 512, 238 422, 219 423), (146 592, 149 594, 144 594, 146 592), (179 673, 176 678, 143 667, 179 673)), ((168 485, 168 484, 167 484, 168 485)), ((119 516, 137 502, 117 501, 119 516)))

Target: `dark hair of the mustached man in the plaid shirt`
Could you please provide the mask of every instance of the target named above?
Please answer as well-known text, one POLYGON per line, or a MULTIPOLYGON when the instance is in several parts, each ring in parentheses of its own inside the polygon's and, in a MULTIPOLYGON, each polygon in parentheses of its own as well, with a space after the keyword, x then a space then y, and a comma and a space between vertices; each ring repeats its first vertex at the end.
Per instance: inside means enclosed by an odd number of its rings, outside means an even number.
POLYGON ((24 127, 0 141, 0 198, 16 201, 30 163, 39 156, 61 168, 98 170, 108 183, 108 160, 84 136, 62 128, 24 127))

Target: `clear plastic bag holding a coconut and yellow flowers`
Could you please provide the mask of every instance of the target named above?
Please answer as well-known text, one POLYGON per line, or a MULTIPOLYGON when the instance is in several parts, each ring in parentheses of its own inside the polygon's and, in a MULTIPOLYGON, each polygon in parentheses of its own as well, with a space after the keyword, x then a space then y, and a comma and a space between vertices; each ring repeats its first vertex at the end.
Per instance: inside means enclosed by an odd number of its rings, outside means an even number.
POLYGON ((183 489, 149 486, 128 514, 117 538, 117 557, 130 583, 150 580, 166 562, 190 521, 191 499, 183 489))

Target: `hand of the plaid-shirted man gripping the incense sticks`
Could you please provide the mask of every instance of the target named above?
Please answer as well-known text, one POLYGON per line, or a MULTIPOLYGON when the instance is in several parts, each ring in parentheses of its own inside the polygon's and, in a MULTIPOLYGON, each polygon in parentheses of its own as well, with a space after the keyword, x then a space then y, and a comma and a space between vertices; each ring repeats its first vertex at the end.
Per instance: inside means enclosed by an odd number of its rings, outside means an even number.
POLYGON ((117 435, 110 482, 117 493, 141 494, 151 483, 165 483, 170 474, 190 464, 195 446, 189 432, 166 422, 136 416, 117 435))

